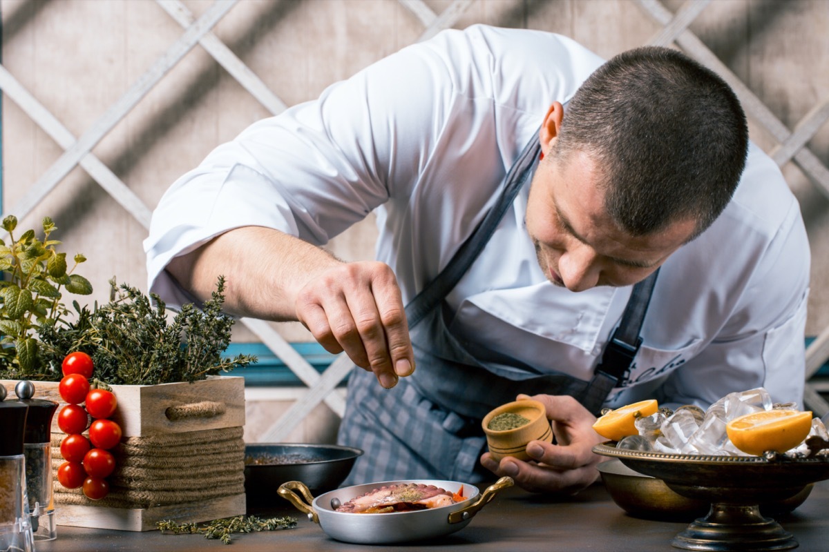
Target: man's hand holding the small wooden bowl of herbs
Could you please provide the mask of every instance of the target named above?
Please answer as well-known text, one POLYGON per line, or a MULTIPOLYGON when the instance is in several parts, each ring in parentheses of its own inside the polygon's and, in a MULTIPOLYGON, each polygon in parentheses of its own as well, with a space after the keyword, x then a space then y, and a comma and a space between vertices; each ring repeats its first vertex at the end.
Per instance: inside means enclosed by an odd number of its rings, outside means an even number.
POLYGON ((497 476, 510 476, 516 485, 530 492, 575 494, 599 478, 596 465, 604 458, 594 454, 595 444, 604 441, 593 430, 596 417, 571 396, 536 395, 533 398, 546 406, 547 419, 553 427, 557 444, 531 441, 526 452, 534 459, 523 462, 502 458, 497 463, 492 454, 484 453, 481 463, 497 476))

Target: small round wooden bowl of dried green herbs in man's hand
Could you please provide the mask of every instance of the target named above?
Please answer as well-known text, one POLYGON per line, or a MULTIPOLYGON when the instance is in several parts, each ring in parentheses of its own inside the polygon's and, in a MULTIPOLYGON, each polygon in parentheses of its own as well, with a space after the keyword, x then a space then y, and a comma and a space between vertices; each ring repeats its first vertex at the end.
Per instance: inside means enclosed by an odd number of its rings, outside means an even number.
POLYGON ((527 443, 530 441, 553 442, 553 430, 550 427, 550 421, 547 420, 545 406, 531 399, 508 402, 506 405, 498 406, 484 416, 481 425, 483 432, 487 435, 489 452, 498 462, 506 456, 530 460, 530 456, 526 454, 527 443), (507 412, 524 416, 530 421, 513 430, 490 430, 489 422, 492 418, 507 412))

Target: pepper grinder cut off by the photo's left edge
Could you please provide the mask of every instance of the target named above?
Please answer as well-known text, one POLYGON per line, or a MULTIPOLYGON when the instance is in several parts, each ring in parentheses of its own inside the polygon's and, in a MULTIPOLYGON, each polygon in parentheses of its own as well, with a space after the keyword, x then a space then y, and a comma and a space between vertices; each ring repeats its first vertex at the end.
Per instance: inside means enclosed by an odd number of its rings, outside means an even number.
MULTIPOLYGON (((6 391, 2 385, 0 389, 6 391)), ((28 410, 29 407, 22 402, 0 401, 0 550, 35 550, 26 498, 26 459, 23 456, 23 433, 28 410)))

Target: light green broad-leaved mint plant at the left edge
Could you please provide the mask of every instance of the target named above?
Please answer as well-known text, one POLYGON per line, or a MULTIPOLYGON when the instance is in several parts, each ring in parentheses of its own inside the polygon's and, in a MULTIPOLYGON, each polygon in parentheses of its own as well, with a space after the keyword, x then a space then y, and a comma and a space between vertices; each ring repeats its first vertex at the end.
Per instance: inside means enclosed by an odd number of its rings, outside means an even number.
POLYGON ((60 362, 56 370, 39 334, 41 329, 58 330, 69 324, 61 288, 78 295, 92 293, 90 282, 73 273, 86 258, 75 255, 69 268, 66 254, 56 249, 61 242, 51 239, 56 226, 49 217, 43 218, 42 241, 31 229, 15 238, 14 215, 3 218, 2 228, 9 237, 8 242, 0 239, 0 378, 60 377, 60 362))

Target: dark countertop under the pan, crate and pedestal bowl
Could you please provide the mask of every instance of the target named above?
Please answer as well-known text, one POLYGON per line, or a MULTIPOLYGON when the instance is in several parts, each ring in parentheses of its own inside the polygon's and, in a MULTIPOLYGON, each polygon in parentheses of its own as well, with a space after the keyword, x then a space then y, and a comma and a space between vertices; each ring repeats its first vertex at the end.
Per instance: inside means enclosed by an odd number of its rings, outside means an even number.
MULTIPOLYGON (((123 550, 241 550, 244 552, 285 550, 478 550, 486 552, 540 552, 541 550, 599 550, 647 552, 677 550, 671 539, 688 521, 649 521, 629 516, 609 497, 604 487, 594 485, 575 497, 552 498, 511 487, 473 518, 468 526, 438 540, 411 545, 351 545, 329 538, 320 528, 281 497, 274 496, 273 509, 250 512, 257 516, 293 516, 295 529, 233 536, 225 548, 220 540, 202 535, 162 535, 58 526, 58 538, 37 543, 37 552, 107 552, 123 550)), ((792 513, 776 519, 791 532, 804 552, 829 550, 829 482, 819 482, 807 501, 792 513)))

